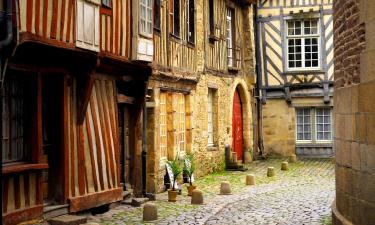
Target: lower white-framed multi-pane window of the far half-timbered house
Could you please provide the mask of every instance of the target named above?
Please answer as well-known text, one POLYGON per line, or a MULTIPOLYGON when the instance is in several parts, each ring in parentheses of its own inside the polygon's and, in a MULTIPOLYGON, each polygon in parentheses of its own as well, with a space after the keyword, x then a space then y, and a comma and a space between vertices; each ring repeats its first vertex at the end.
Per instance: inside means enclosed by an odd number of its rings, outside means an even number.
POLYGON ((332 141, 331 108, 296 108, 297 141, 332 141))

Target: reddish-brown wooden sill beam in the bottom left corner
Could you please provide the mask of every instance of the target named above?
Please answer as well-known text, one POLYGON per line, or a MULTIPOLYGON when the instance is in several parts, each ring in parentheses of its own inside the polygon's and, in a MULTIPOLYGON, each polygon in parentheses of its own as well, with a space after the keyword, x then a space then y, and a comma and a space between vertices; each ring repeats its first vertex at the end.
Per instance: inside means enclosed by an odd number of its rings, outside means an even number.
POLYGON ((40 218, 43 214, 43 205, 36 205, 3 214, 3 224, 19 224, 23 221, 40 218))

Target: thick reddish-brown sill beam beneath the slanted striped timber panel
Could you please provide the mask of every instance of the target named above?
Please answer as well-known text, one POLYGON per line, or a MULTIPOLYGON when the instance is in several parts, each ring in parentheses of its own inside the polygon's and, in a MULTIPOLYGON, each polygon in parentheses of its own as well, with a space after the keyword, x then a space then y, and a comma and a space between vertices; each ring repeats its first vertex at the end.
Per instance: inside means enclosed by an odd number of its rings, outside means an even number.
POLYGON ((107 191, 90 193, 88 195, 69 198, 70 212, 78 212, 85 209, 98 207, 122 200, 122 188, 115 188, 107 191))

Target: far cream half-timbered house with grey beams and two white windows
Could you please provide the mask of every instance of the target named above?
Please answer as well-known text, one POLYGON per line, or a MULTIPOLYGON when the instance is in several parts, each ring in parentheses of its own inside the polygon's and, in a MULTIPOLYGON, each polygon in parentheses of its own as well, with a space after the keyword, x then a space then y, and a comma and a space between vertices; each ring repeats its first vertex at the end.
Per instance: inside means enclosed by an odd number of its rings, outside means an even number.
POLYGON ((332 0, 259 0, 258 87, 263 153, 331 156, 332 0))

